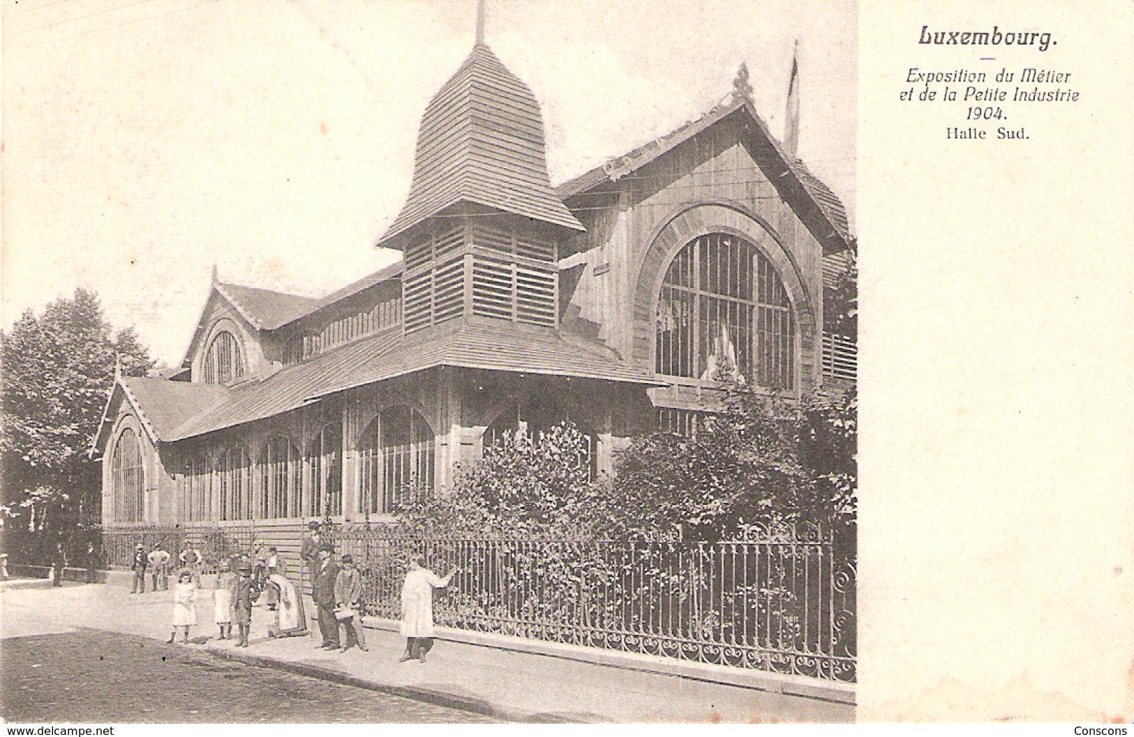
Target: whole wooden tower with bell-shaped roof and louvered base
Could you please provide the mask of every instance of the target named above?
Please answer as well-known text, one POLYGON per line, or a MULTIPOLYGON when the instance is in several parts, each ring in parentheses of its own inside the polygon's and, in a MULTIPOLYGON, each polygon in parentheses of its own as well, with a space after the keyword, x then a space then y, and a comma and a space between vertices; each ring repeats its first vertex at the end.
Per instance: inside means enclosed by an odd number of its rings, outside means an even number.
POLYGON ((406 332, 473 315, 555 327, 557 244, 583 229, 551 188, 535 96, 476 44, 425 108, 378 244, 405 252, 406 332))

